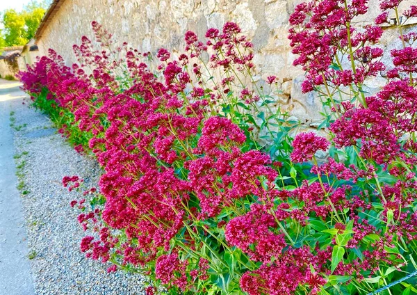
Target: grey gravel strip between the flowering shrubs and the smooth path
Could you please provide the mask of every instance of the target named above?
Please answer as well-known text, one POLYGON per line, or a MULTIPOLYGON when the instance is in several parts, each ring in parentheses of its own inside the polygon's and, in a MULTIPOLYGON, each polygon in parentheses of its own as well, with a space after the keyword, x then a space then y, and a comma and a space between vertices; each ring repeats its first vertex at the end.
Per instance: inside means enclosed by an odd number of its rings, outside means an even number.
POLYGON ((97 182, 95 161, 77 154, 44 115, 13 100, 17 173, 26 218, 29 258, 36 294, 145 294, 144 278, 106 273, 79 250, 83 230, 70 207, 74 194, 65 175, 97 182))

